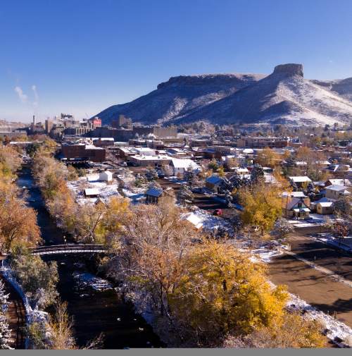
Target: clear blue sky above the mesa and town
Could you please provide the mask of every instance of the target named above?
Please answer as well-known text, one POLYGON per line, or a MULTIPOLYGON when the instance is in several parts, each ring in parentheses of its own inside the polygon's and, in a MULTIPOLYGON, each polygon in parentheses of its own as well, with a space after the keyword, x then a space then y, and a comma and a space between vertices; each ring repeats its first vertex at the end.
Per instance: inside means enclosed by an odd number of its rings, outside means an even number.
POLYGON ((352 77, 350 0, 1 1, 0 118, 93 116, 170 76, 352 77))

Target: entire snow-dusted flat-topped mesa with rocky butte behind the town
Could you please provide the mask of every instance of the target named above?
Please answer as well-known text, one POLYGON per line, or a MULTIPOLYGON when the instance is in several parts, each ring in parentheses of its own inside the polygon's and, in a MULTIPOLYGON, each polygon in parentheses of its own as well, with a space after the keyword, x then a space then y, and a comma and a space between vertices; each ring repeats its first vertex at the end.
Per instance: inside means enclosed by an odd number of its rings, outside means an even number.
POLYGON ((352 120, 352 78, 308 80, 301 64, 276 66, 270 75, 182 75, 127 104, 98 113, 104 124, 118 114, 141 123, 285 123, 325 125, 352 120))

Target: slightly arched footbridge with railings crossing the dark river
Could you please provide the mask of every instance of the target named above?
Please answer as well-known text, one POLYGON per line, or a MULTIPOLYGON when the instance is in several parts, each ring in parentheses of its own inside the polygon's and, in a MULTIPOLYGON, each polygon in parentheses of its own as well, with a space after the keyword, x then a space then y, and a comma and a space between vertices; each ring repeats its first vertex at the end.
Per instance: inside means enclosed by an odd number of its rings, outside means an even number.
POLYGON ((82 254, 82 253, 108 253, 109 247, 106 245, 93 244, 66 244, 30 247, 30 252, 39 256, 45 254, 82 254))

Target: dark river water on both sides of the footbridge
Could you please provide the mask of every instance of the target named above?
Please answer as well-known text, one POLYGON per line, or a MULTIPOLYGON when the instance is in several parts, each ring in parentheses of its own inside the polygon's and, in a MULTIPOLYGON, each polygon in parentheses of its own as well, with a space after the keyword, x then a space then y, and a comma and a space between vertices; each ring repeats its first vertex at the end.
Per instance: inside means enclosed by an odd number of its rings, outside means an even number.
MULTIPOLYGON (((46 210, 30 168, 23 167, 17 184, 20 188, 25 187, 27 204, 37 211, 43 243, 63 243, 64 233, 46 210)), ((68 302, 68 312, 73 317, 75 338, 80 347, 100 333, 103 333, 103 346, 99 348, 158 348, 163 345, 151 326, 134 313, 132 305, 120 298, 114 286, 96 276, 92 270, 94 257, 67 254, 50 259, 58 262, 58 293, 61 300, 68 302)))

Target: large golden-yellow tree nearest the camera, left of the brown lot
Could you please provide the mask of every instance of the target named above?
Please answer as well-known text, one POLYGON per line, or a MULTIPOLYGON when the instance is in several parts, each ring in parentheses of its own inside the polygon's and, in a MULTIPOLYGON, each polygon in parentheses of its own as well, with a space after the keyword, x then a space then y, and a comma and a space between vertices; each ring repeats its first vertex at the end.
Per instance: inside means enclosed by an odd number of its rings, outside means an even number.
POLYGON ((194 245, 184 258, 184 271, 169 305, 185 340, 217 345, 227 333, 270 327, 284 314, 286 288, 272 288, 265 266, 231 245, 194 245))

